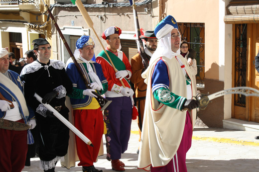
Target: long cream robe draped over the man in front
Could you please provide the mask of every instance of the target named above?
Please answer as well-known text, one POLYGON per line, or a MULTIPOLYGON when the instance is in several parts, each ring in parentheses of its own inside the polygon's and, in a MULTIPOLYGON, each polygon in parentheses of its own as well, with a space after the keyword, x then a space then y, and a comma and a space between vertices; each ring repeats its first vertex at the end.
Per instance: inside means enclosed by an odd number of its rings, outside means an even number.
MULTIPOLYGON (((177 56, 185 65, 185 70, 193 80, 187 60, 181 55, 177 56)), ((152 58, 151 58, 152 59, 152 58)), ((138 168, 150 170, 152 167, 167 165, 175 155, 180 145, 186 118, 186 111, 180 111, 166 106, 154 98, 151 90, 151 77, 153 69, 159 58, 152 59, 149 67, 142 74, 147 84, 146 104, 142 126, 141 142, 138 155, 138 168)), ((186 80, 180 64, 175 57, 169 59, 162 57, 169 70, 169 89, 171 92, 187 97, 186 80)), ((192 95, 195 90, 192 86, 192 95)), ((196 109, 191 112, 192 125, 196 120, 196 109)))

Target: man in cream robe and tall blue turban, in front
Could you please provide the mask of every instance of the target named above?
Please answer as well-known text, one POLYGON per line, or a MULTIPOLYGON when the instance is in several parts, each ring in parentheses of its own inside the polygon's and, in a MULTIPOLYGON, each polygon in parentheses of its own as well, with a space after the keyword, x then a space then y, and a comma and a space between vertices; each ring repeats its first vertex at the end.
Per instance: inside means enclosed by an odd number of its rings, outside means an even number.
POLYGON ((187 172, 186 153, 199 102, 187 60, 180 55, 175 19, 166 16, 154 29, 157 49, 142 77, 147 84, 138 168, 151 172, 187 172), (186 110, 188 109, 188 110, 186 110))

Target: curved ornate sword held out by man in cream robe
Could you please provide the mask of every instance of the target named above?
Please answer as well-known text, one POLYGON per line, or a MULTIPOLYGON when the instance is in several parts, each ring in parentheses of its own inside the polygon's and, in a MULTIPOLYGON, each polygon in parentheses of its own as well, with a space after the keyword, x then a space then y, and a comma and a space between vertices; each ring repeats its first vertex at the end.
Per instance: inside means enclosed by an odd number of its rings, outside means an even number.
POLYGON ((252 87, 248 87, 248 86, 239 86, 239 87, 234 87, 234 88, 229 88, 229 89, 225 89, 222 91, 218 91, 218 92, 215 92, 210 95, 198 92, 197 95, 194 97, 197 100, 199 100, 199 102, 200 102, 199 107, 202 110, 204 110, 207 107, 207 105, 209 104, 210 100, 223 96, 223 95, 226 95, 226 94, 242 94, 245 96, 259 96, 259 90, 252 88, 252 87))

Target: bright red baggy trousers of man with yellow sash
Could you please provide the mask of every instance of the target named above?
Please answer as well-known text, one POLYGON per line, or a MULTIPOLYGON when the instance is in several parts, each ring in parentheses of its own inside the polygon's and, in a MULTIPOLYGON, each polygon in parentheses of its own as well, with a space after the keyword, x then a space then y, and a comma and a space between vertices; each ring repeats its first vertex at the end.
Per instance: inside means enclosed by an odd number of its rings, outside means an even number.
POLYGON ((81 131, 94 147, 87 145, 76 136, 77 155, 80 160, 78 166, 93 166, 96 162, 101 139, 104 133, 104 119, 102 111, 98 109, 74 110, 75 127, 81 131))

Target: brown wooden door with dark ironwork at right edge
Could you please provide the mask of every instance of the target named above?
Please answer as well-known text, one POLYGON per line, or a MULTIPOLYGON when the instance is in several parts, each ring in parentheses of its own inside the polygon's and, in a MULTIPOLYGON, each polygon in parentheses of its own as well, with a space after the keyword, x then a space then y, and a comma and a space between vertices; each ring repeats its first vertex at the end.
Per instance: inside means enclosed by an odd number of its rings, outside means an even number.
MULTIPOLYGON (((233 25, 233 87, 259 89, 255 56, 259 50, 259 24, 233 25)), ((259 122, 259 97, 232 95, 232 118, 259 122)))

